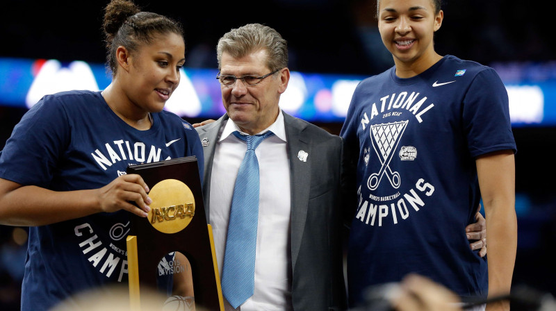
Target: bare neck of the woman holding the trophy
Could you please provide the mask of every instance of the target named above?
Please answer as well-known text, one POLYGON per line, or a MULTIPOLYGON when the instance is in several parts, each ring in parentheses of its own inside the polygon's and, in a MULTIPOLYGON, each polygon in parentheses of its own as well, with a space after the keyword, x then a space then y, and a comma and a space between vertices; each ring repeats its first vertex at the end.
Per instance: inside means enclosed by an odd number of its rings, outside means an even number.
POLYGON ((108 107, 110 107, 120 119, 124 120, 126 124, 140 131, 151 128, 152 117, 150 113, 138 108, 138 106, 131 102, 116 81, 108 85, 101 94, 108 104, 108 107))

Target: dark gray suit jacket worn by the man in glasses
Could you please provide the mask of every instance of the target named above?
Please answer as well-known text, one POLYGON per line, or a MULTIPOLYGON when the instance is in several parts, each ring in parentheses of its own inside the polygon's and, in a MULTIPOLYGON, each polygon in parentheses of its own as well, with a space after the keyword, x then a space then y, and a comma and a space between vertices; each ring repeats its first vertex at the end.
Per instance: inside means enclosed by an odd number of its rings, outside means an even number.
MULTIPOLYGON (((224 115, 197 128, 204 151, 203 195, 208 218, 215 146, 224 115)), ((284 113, 291 183, 291 260, 294 310, 345 310, 339 194, 342 140, 284 113), (308 153, 306 162, 297 158, 308 153)), ((210 219, 207 219, 210 223, 210 219)), ((222 262, 219 262, 222 264, 222 262)))

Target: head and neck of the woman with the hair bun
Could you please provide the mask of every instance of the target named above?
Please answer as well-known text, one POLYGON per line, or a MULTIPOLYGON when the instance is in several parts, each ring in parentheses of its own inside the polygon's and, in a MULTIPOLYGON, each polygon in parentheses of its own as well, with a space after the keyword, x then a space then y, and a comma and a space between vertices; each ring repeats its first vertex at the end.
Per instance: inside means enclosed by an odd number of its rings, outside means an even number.
POLYGON ((179 84, 186 49, 183 30, 171 19, 139 12, 131 2, 113 1, 106 8, 104 31, 113 75, 104 99, 126 123, 148 129, 149 112, 163 110, 179 84))

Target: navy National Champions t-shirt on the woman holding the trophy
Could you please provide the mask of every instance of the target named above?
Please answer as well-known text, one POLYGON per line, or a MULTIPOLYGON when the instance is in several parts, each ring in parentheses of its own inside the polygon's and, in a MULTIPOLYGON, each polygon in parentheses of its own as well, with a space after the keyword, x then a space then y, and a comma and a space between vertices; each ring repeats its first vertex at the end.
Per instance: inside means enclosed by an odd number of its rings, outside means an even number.
MULTIPOLYGON (((44 96, 15 126, 0 155, 0 177, 54 191, 103 187, 126 167, 196 155, 197 131, 172 112, 152 113, 139 131, 108 107, 100 92, 44 96)), ((153 187, 154 185, 149 185, 153 187)), ((127 283, 129 212, 29 228, 22 310, 47 310, 84 289, 127 283)))

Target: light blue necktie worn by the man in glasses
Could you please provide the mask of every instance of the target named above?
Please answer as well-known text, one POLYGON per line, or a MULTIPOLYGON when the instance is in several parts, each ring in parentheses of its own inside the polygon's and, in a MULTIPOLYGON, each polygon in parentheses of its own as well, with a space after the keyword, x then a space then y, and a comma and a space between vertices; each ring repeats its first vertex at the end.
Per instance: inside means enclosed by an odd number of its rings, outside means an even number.
POLYGON ((231 199, 222 267, 222 294, 235 309, 254 294, 256 226, 259 222, 259 160, 255 149, 273 133, 241 135, 235 131, 234 135, 247 142, 231 199))

